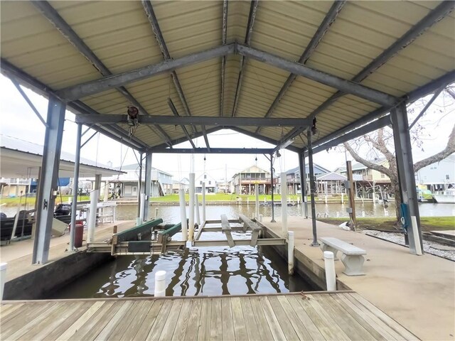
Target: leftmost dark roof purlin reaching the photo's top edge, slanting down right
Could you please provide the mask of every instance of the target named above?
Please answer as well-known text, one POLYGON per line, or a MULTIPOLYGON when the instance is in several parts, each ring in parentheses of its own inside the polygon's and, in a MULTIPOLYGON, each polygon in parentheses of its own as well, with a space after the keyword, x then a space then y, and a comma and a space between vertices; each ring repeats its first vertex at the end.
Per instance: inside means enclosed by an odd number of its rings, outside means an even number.
MULTIPOLYGON (((92 64, 103 76, 110 76, 112 75, 112 72, 102 63, 100 58, 95 55, 95 53, 87 46, 87 44, 84 43, 84 40, 80 38, 80 36, 77 36, 77 33, 71 28, 71 26, 63 19, 58 11, 56 11, 53 6, 51 6, 48 1, 31 1, 33 6, 36 7, 36 9, 43 15, 45 18, 48 19, 48 21, 55 27, 57 30, 64 36, 68 42, 70 42, 71 45, 75 47, 75 49, 82 54, 89 62, 92 64)), ((125 87, 118 87, 117 90, 123 94, 124 97, 126 97, 129 102, 134 104, 136 107, 138 107, 139 111, 141 111, 143 114, 149 115, 148 112, 144 109, 144 107, 137 102, 137 99, 135 99, 132 94, 129 93, 129 91, 125 87)), ((151 128, 151 127, 150 127, 151 128)), ((156 129, 159 131, 159 134, 161 134, 161 138, 166 141, 166 143, 170 143, 171 138, 166 134, 166 131, 164 129, 161 129, 160 126, 156 126, 156 129)), ((152 129, 153 131, 153 129, 152 129)), ((154 131, 155 133, 155 131, 154 131)), ((171 146, 171 145, 170 145, 171 146)))

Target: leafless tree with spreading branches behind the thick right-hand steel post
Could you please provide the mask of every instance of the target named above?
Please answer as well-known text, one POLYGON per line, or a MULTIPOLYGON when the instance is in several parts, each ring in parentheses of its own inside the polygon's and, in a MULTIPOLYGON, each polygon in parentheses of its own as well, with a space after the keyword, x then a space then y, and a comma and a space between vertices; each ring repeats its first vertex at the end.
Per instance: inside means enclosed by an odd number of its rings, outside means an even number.
MULTIPOLYGON (((449 94, 451 99, 455 100, 455 90, 449 86, 446 87, 444 90, 446 94, 449 94)), ((443 92, 443 93, 444 93, 443 92)), ((408 111, 412 111, 408 110, 408 111)), ((418 147, 422 147, 422 131, 424 130, 424 126, 420 124, 416 124, 412 131, 411 131, 411 140, 414 145, 418 147)), ((362 163, 363 165, 367 166, 368 168, 374 169, 380 173, 387 175, 390 178, 390 185, 391 190, 395 194, 395 214, 397 216, 397 222, 400 220, 400 185, 398 182, 398 172, 397 172, 397 160, 395 158, 395 151, 390 148, 393 146, 392 144, 393 134, 390 128, 381 128, 378 131, 373 133, 361 136, 354 141, 345 142, 343 145, 345 146, 346 150, 349 151, 350 155, 353 156, 354 160, 357 162, 362 163), (359 151, 361 148, 365 150, 365 145, 368 146, 367 149, 367 156, 368 154, 378 155, 378 153, 382 154, 385 157, 385 160, 388 163, 388 168, 386 166, 382 166, 378 163, 372 162, 367 158, 360 156, 359 151)), ((440 151, 439 153, 434 154, 433 156, 429 156, 424 160, 418 161, 414 163, 414 172, 419 171, 419 169, 429 166, 432 163, 437 163, 444 158, 450 156, 452 153, 455 152, 455 124, 452 127, 451 133, 449 134, 449 139, 445 148, 440 151)))

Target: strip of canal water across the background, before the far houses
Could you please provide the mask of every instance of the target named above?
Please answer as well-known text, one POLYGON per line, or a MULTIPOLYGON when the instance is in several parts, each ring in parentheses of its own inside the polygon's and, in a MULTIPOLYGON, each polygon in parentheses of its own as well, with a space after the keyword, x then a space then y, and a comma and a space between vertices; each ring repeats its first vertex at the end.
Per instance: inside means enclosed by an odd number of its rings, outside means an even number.
MULTIPOLYGON (((166 223, 175 223, 180 217, 180 208, 175 206, 151 206, 149 208, 149 218, 154 217, 155 207, 158 207, 158 216, 166 223)), ((328 215, 328 217, 336 217, 337 212, 339 217, 348 217, 346 213, 348 205, 345 204, 324 204, 318 203, 316 205, 316 215, 328 215)), ((202 207, 200 207, 202 210, 202 207)), ((390 202, 389 206, 385 209, 382 204, 373 204, 373 202, 357 202, 355 204, 355 210, 358 217, 362 217, 362 212, 365 212, 365 217, 385 217, 395 216, 395 202, 390 202), (387 213, 386 213, 387 212, 387 213)), ((282 207, 275 207, 275 217, 281 217, 282 207)), ((309 212, 311 207, 309 206, 309 212)), ((433 203, 419 203, 419 212, 421 217, 454 217, 455 216, 455 205, 453 204, 433 204, 433 203)), ((252 217, 255 215, 255 205, 208 205, 206 207, 206 219, 208 220, 220 220, 220 215, 228 215, 230 219, 235 219, 238 214, 252 217)), ((291 216, 301 216, 302 206, 288 206, 287 213, 291 216)), ((272 216, 272 207, 261 206, 259 207, 259 214, 264 217, 272 216)), ((117 219, 118 220, 135 220, 137 216, 136 205, 123 205, 117 207, 117 219)), ((188 217, 188 207, 187 207, 188 217)))

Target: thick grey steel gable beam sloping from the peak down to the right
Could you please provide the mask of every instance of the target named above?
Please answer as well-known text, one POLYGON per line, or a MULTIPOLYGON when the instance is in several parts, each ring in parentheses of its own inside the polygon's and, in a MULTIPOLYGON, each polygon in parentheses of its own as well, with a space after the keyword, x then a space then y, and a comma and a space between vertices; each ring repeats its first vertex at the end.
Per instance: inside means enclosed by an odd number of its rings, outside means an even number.
POLYGON ((237 53, 245 55, 245 57, 259 60, 262 63, 273 65, 279 69, 287 70, 296 75, 309 78, 310 80, 314 80, 315 82, 319 82, 323 85, 334 87, 335 89, 348 94, 354 94, 355 96, 368 99, 371 102, 388 105, 390 107, 399 102, 399 99, 390 94, 386 94, 385 92, 365 87, 364 85, 360 85, 350 80, 345 80, 335 75, 330 75, 327 72, 315 70, 311 67, 279 57, 278 55, 273 55, 272 53, 250 48, 250 46, 247 45, 237 44, 237 53))

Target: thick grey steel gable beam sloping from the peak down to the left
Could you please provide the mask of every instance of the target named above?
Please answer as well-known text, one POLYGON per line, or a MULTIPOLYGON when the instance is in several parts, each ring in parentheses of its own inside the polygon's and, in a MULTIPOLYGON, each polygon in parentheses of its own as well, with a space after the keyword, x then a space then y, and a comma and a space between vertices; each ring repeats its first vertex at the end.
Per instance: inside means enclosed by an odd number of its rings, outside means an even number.
POLYGON ((80 85, 66 87, 65 89, 58 91, 57 94, 68 101, 73 101, 75 99, 107 91, 114 87, 121 87, 122 85, 144 80, 155 75, 161 75, 162 73, 176 70, 179 67, 190 66, 205 60, 218 58, 226 54, 234 53, 234 51, 235 43, 218 46, 216 48, 210 48, 209 50, 192 53, 191 55, 186 55, 174 60, 165 60, 164 62, 158 64, 147 65, 139 67, 135 70, 119 73, 117 75, 102 77, 99 80, 93 80, 80 85))

